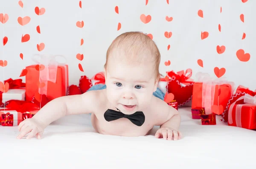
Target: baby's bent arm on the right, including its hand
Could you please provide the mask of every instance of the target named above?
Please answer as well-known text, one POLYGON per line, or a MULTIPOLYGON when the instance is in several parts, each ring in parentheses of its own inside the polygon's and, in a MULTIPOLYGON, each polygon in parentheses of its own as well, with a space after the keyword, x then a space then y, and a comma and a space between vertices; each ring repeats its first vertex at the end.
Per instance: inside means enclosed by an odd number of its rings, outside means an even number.
POLYGON ((180 115, 179 112, 172 106, 169 106, 165 101, 157 99, 157 121, 156 125, 160 126, 160 129, 156 132, 156 137, 161 136, 164 139, 174 140, 181 138, 181 133, 179 131, 180 127, 180 115))

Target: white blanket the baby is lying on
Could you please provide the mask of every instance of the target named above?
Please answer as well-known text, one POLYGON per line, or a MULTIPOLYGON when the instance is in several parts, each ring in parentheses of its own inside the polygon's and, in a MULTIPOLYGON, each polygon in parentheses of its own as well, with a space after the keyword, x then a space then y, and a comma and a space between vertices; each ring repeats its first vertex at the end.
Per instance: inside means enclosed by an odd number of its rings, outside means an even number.
POLYGON ((151 135, 120 137, 93 130, 90 115, 72 115, 50 124, 43 138, 17 140, 17 127, 0 126, 0 167, 10 169, 242 169, 256 167, 256 131, 201 125, 190 107, 179 108, 183 139, 166 141, 151 135), (46 168, 47 167, 47 168, 46 168))

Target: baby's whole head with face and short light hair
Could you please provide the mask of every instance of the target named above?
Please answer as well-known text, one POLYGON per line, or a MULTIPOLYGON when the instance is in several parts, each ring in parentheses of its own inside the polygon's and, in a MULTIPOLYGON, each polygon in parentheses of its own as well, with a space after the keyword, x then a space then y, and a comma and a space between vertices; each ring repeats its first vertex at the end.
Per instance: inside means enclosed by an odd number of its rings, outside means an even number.
POLYGON ((141 32, 126 32, 107 51, 105 79, 110 103, 126 114, 142 110, 157 90, 160 52, 141 32))

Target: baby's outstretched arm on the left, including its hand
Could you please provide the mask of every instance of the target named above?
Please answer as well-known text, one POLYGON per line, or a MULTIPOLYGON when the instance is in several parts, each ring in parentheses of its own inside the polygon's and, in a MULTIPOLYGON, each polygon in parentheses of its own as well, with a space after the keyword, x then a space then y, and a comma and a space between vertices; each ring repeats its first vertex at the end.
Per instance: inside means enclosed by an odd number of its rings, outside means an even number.
POLYGON ((63 96, 53 99, 38 111, 32 118, 20 122, 17 138, 22 138, 30 132, 27 138, 41 138, 44 129, 53 121, 65 115, 92 113, 93 104, 97 103, 96 91, 81 95, 63 96))

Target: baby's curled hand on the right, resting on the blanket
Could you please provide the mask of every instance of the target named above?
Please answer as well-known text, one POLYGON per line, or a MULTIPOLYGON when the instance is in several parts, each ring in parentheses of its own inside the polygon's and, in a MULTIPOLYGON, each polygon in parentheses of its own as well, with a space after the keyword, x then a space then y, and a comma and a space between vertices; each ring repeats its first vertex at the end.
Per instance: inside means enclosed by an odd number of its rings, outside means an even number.
POLYGON ((181 139, 182 137, 180 131, 174 130, 170 127, 162 127, 158 129, 155 134, 155 138, 163 138, 165 140, 172 140, 172 136, 173 140, 181 139))

